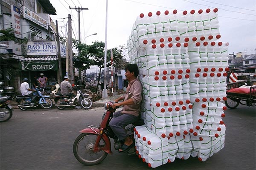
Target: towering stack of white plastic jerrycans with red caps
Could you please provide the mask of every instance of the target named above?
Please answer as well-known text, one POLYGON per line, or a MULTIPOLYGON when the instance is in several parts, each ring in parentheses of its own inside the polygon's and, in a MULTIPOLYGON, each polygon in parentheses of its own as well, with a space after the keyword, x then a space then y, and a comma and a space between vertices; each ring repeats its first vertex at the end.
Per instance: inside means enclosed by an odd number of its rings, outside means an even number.
POLYGON ((140 14, 128 39, 143 84, 145 125, 134 129, 149 167, 175 158, 205 161, 224 147, 228 42, 218 9, 140 14))

